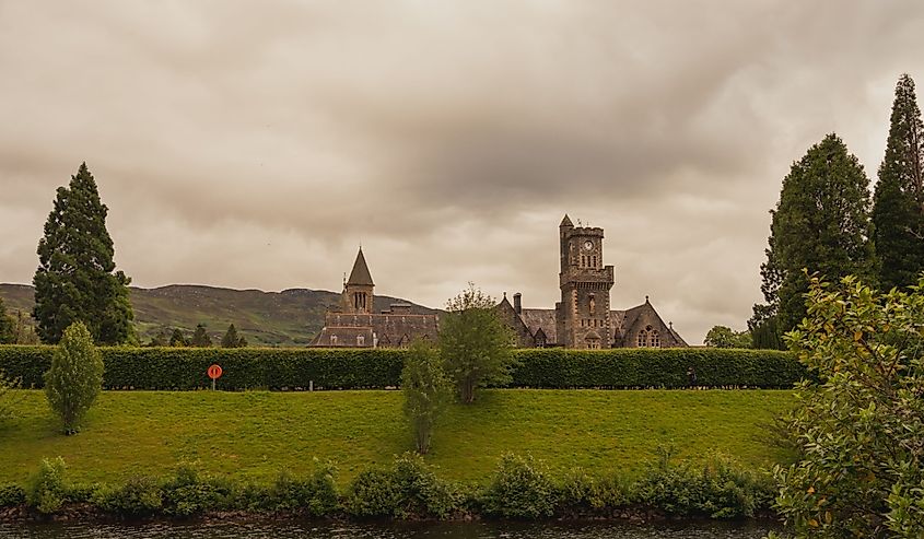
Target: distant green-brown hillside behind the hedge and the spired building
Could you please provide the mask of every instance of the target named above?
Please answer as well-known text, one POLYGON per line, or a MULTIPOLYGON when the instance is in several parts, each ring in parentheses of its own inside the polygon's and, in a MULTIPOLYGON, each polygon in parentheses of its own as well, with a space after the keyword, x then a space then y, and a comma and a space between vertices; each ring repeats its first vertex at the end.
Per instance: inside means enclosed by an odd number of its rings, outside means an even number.
MULTIPOLYGON (((0 297, 8 312, 32 313, 33 289, 27 284, 0 284, 0 297)), ((218 343, 234 324, 250 344, 305 345, 324 326, 324 314, 340 302, 340 294, 326 290, 292 289, 282 292, 232 290, 190 284, 171 284, 159 289, 131 288, 134 321, 142 342, 162 329, 179 328, 191 332, 204 324, 218 343)), ((393 303, 411 303, 389 296, 375 296, 376 310, 393 303)), ((412 313, 434 309, 411 303, 412 313)))

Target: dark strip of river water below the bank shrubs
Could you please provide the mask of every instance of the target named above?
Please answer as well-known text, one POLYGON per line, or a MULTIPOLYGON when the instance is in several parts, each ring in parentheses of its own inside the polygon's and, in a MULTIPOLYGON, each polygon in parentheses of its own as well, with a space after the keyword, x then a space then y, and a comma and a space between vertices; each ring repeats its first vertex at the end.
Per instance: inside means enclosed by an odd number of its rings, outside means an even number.
POLYGON ((16 539, 759 539, 764 524, 685 523, 214 523, 214 524, 0 524, 0 538, 16 539))

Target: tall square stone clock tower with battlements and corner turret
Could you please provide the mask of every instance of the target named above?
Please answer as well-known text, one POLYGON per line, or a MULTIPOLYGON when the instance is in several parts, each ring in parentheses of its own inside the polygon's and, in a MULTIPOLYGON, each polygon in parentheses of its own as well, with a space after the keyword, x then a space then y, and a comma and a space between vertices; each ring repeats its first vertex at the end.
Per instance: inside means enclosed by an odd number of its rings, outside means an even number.
POLYGON ((555 304, 558 341, 565 348, 611 348, 609 291, 612 266, 604 266, 604 230, 574 226, 568 215, 559 225, 561 302, 555 304))

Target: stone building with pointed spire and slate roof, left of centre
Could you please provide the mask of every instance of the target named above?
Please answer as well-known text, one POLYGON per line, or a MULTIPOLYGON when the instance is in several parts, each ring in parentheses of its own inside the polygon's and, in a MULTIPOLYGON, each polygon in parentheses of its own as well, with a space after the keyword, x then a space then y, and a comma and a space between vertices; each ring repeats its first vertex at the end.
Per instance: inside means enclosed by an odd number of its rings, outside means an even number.
POLYGON ((407 303, 393 303, 375 312, 375 283, 363 256, 356 254, 350 278, 343 283, 339 309, 325 315, 324 328, 312 347, 324 348, 405 348, 411 340, 435 341, 438 316, 414 314, 407 303))

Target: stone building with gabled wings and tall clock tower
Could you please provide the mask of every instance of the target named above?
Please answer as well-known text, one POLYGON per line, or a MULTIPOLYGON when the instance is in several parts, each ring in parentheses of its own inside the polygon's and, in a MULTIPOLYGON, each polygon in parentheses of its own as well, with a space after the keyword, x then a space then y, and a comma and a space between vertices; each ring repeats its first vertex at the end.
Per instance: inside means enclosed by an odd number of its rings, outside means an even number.
POLYGON ((612 266, 604 265, 604 230, 574 226, 568 215, 559 225, 561 301, 555 308, 523 308, 523 296, 506 294, 498 305, 519 347, 676 348, 687 342, 665 324, 648 297, 627 310, 610 307, 612 266))

